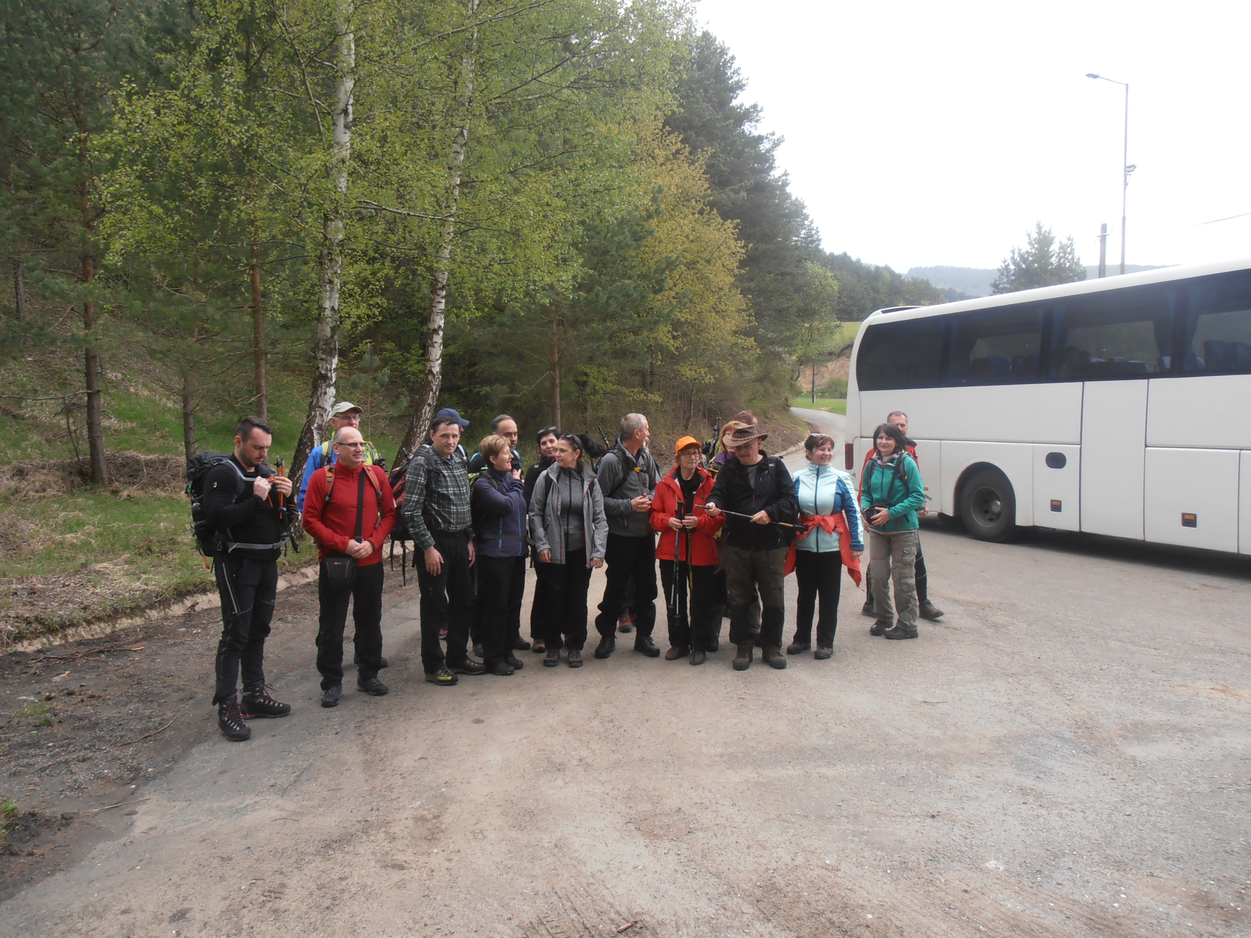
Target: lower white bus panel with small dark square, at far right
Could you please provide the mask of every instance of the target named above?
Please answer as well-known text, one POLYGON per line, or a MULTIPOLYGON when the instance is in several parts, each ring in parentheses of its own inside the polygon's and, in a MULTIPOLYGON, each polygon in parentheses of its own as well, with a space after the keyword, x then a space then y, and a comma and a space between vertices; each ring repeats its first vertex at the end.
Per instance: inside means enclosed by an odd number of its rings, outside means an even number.
POLYGON ((1147 540, 1238 549, 1238 451, 1147 448, 1147 540))

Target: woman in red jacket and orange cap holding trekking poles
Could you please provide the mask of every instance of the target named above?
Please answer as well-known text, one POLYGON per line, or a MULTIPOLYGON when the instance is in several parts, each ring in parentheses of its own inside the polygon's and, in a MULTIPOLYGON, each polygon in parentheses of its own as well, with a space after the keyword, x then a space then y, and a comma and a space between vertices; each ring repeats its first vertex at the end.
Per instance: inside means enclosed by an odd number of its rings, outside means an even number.
POLYGON ((656 558, 668 599, 669 650, 664 660, 691 655, 703 664, 717 648, 721 605, 716 603, 717 542, 723 518, 703 510, 713 478, 699 464, 699 440, 683 436, 674 446, 678 464, 661 479, 652 499, 652 527, 661 533, 656 558), (697 510, 698 509, 698 510, 697 510))

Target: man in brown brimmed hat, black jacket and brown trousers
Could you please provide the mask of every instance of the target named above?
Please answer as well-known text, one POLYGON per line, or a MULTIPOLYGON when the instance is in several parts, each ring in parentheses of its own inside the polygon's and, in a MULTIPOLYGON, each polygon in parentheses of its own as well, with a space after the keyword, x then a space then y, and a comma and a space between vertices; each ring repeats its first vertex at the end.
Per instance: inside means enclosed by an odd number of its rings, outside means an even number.
POLYGON ((729 594, 729 640, 738 647, 734 670, 752 664, 754 640, 748 620, 748 604, 759 589, 761 644, 764 663, 786 668, 782 654, 782 624, 786 619, 783 579, 786 554, 799 515, 794 482, 786 464, 761 449, 768 434, 754 426, 736 426, 729 436, 733 459, 717 473, 717 484, 708 495, 708 514, 724 512, 726 527, 721 542, 721 565, 729 594))

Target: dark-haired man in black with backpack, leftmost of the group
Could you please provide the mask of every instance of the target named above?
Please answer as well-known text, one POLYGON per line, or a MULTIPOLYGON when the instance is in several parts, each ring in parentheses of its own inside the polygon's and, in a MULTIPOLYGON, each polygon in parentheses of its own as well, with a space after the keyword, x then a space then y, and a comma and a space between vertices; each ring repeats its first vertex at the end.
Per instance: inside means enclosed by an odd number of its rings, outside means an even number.
POLYGON ((245 416, 235 428, 235 448, 204 477, 201 499, 205 528, 214 535, 214 574, 221 597, 221 639, 218 642, 218 728, 231 742, 251 737, 244 720, 285 717, 290 704, 265 689, 265 638, 278 595, 278 557, 290 510, 291 480, 265 466, 273 431, 259 416, 245 416), (236 698, 243 670, 243 700, 236 698))

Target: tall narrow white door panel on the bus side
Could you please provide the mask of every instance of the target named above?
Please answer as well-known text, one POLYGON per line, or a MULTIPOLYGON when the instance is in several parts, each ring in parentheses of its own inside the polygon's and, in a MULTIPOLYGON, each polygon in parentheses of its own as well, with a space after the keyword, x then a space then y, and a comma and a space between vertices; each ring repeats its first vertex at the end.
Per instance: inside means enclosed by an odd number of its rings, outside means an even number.
POLYGON ((1142 540, 1147 381, 1086 381, 1082 530, 1142 540))

